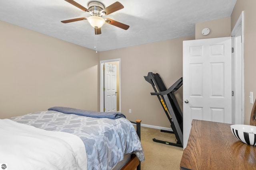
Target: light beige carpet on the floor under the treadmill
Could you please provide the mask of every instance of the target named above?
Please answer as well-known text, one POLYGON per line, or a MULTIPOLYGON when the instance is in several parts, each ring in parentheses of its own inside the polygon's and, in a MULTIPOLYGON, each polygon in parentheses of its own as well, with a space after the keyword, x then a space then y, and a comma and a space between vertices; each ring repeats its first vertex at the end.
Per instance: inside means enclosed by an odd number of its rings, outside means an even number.
POLYGON ((162 141, 176 143, 172 133, 160 132, 159 129, 141 127, 141 143, 145 161, 141 163, 142 170, 179 170, 183 149, 154 142, 156 138, 162 141))

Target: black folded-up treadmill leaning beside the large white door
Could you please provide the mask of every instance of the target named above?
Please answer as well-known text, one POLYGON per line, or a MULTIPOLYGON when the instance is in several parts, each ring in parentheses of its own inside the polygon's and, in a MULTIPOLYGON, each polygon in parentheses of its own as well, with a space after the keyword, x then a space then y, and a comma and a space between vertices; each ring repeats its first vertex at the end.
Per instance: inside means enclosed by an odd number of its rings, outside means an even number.
POLYGON ((144 76, 144 78, 152 85, 154 92, 151 92, 150 94, 158 97, 173 130, 161 130, 161 132, 174 133, 176 137, 176 143, 161 141, 155 138, 153 141, 166 145, 183 147, 183 114, 174 95, 174 92, 182 86, 182 77, 168 89, 164 85, 164 82, 158 73, 154 74, 153 72, 148 72, 148 76, 144 76))

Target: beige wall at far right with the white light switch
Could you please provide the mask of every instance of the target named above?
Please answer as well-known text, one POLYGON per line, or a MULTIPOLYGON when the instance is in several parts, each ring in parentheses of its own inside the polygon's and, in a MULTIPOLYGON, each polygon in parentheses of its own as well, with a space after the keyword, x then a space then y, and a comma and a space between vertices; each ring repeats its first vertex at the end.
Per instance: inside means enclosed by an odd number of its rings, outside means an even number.
POLYGON ((244 10, 244 123, 250 124, 252 104, 250 104, 250 92, 256 98, 256 74, 255 74, 255 39, 256 39, 256 1, 237 0, 231 15, 231 29, 233 29, 241 12, 244 10))

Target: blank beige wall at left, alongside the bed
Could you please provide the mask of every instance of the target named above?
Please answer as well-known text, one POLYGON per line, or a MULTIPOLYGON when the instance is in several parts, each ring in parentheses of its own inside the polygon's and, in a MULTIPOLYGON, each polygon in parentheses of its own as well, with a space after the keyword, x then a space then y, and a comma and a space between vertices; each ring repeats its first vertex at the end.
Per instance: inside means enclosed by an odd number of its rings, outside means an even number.
POLYGON ((95 51, 0 21, 0 118, 52 106, 99 110, 95 51))

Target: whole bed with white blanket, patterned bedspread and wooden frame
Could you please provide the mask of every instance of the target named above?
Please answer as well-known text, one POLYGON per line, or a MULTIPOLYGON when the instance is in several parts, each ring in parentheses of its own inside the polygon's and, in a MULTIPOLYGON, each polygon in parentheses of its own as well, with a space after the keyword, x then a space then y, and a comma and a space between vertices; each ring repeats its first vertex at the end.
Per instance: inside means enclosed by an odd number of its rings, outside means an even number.
POLYGON ((10 169, 140 169, 140 121, 132 123, 119 112, 69 107, 1 119, 0 160, 10 169))

